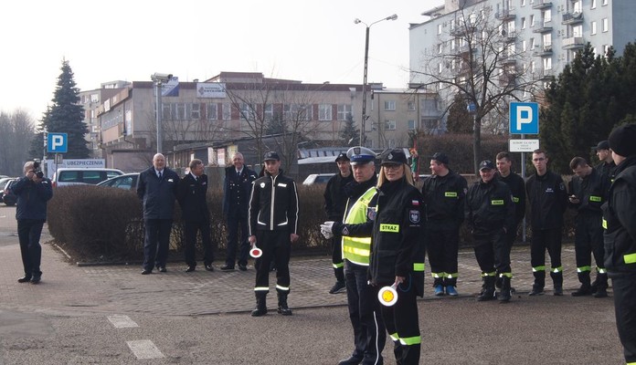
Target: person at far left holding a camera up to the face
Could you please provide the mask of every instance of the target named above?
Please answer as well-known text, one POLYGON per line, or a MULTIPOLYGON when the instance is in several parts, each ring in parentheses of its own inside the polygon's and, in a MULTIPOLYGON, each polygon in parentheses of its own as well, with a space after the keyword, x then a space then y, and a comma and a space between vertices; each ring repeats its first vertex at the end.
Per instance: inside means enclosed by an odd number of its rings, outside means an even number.
POLYGON ((25 267, 25 276, 17 279, 17 282, 37 284, 42 278, 42 246, 39 239, 47 221, 47 203, 53 197, 53 188, 51 181, 39 169, 39 162, 26 162, 24 172, 25 177, 11 187, 17 196, 17 236, 22 265, 25 267))

